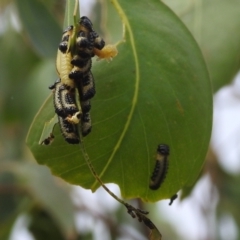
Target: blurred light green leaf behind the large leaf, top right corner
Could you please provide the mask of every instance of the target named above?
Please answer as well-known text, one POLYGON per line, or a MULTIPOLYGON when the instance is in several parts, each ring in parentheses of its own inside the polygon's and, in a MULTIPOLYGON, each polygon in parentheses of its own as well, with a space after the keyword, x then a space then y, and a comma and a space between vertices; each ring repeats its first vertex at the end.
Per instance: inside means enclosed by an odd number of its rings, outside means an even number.
POLYGON ((164 0, 189 28, 206 60, 214 91, 240 67, 240 1, 164 0))

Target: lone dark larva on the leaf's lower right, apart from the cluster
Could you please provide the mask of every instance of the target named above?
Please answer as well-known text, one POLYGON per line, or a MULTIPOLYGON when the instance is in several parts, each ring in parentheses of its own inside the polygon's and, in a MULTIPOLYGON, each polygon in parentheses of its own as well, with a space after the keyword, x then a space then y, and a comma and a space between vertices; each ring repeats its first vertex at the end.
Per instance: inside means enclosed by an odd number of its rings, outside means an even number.
POLYGON ((149 184, 149 188, 152 190, 157 190, 160 188, 163 183, 169 165, 169 146, 166 144, 160 144, 157 147, 157 156, 156 156, 156 164, 153 170, 151 181, 149 184))

